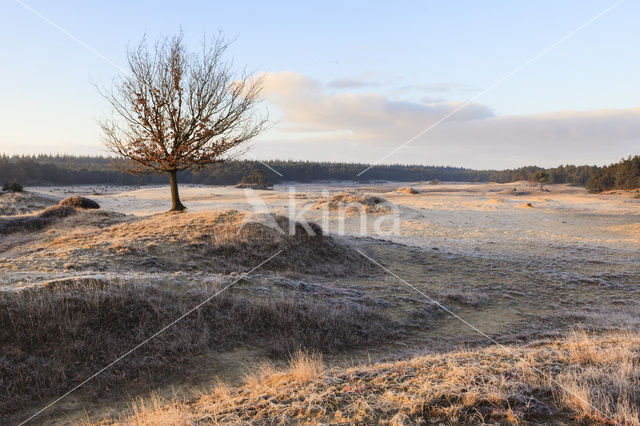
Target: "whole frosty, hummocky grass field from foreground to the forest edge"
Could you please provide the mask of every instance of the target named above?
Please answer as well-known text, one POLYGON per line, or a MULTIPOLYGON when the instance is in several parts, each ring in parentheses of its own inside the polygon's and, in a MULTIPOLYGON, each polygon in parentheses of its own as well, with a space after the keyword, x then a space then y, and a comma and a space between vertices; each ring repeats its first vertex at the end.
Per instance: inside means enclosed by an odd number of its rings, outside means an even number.
POLYGON ((640 424, 635 192, 27 190, 0 195, 3 423, 640 424), (69 195, 101 209, 38 219, 69 195))

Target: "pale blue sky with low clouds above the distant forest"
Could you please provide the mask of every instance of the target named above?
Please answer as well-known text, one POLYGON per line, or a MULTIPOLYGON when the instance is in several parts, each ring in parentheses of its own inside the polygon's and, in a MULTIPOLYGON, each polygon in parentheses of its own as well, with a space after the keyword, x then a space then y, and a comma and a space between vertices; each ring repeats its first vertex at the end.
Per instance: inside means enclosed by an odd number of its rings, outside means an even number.
MULTIPOLYGON (((235 38, 267 73, 259 158, 374 162, 613 1, 25 0, 122 67, 180 28, 235 38)), ((118 70, 14 0, 0 5, 0 152, 101 151, 93 83, 118 70)), ((385 162, 603 164, 640 151, 640 2, 627 0, 385 162)))

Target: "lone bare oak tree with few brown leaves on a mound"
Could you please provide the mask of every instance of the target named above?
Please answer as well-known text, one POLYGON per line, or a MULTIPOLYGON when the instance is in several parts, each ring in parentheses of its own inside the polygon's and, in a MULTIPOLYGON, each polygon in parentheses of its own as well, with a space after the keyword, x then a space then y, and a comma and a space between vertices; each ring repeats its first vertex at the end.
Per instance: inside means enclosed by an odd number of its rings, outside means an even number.
POLYGON ((255 113, 262 79, 234 73, 223 58, 228 47, 222 36, 205 41, 199 54, 186 50, 182 33, 153 48, 143 40, 127 51, 129 73, 101 91, 114 112, 100 123, 105 146, 121 170, 167 173, 172 211, 185 210, 179 171, 237 154, 267 123, 255 113))

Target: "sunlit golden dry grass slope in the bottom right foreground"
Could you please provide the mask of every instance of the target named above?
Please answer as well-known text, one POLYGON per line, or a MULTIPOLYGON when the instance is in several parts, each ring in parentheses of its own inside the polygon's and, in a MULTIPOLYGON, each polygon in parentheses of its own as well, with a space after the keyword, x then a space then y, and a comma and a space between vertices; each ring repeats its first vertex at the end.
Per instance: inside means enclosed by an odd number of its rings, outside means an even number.
POLYGON ((315 362, 310 368, 302 354, 288 370, 263 369, 244 386, 218 387, 189 402, 156 401, 102 423, 163 423, 166 412, 175 424, 637 425, 639 355, 640 334, 584 332, 509 350, 463 350, 348 369, 323 370, 315 362))

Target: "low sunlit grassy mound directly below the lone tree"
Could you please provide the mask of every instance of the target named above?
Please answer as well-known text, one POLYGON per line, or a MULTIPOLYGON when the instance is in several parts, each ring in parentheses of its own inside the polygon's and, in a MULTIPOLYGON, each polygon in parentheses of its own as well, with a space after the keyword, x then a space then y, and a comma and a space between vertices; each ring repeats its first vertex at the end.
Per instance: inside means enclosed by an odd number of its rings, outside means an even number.
MULTIPOLYGON (((90 216, 90 215, 89 215, 90 216)), ((87 216, 87 218, 89 217, 87 216)), ((246 271, 345 275, 370 270, 361 255, 316 224, 238 211, 161 214, 103 228, 75 224, 42 245, 31 262, 74 259, 76 269, 246 271), (66 253, 66 255, 65 255, 66 253), (82 263, 85 262, 85 263, 82 263)))

